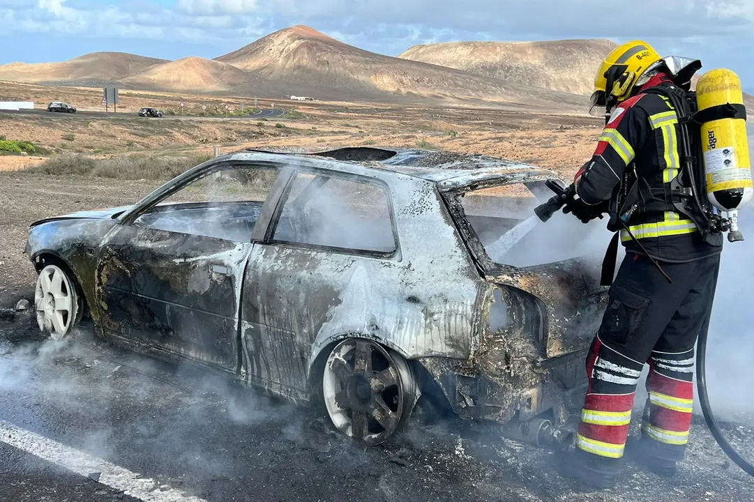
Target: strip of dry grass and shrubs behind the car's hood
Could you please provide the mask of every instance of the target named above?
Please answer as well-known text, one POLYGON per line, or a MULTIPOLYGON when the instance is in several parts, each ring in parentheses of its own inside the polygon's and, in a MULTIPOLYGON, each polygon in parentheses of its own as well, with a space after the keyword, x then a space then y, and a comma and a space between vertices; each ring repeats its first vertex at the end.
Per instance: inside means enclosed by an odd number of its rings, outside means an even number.
POLYGON ((194 152, 179 157, 133 154, 112 158, 92 158, 80 154, 66 154, 29 167, 27 171, 51 176, 167 180, 210 158, 211 155, 194 152))

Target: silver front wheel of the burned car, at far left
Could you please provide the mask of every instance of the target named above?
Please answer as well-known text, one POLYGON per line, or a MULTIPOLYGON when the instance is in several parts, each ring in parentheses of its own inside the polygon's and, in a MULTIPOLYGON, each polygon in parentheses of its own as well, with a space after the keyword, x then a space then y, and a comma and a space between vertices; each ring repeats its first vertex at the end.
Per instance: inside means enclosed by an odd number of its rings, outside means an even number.
POLYGON ((68 335, 78 322, 80 305, 74 280, 57 265, 47 265, 39 272, 34 304, 39 329, 54 340, 68 335))

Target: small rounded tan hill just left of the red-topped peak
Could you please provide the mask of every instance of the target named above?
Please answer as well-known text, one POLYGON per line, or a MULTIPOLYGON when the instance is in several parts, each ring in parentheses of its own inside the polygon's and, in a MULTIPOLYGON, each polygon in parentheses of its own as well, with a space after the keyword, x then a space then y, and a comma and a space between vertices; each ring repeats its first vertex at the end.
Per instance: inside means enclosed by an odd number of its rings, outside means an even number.
POLYGON ((121 78, 126 87, 194 93, 238 93, 258 84, 259 77, 235 66, 201 57, 185 57, 121 78))

